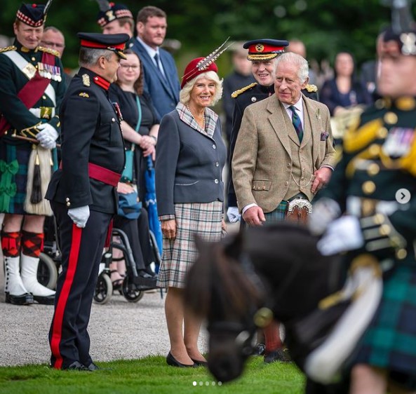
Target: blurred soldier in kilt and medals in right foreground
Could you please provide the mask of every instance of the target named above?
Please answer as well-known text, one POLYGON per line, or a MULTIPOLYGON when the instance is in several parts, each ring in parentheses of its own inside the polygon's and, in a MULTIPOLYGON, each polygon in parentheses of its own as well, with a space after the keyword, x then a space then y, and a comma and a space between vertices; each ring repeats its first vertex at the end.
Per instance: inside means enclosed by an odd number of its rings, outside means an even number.
POLYGON ((345 135, 310 219, 315 233, 328 227, 323 254, 350 251, 351 265, 390 268, 354 358, 353 394, 416 390, 416 30, 389 29, 379 56, 383 98, 345 135))

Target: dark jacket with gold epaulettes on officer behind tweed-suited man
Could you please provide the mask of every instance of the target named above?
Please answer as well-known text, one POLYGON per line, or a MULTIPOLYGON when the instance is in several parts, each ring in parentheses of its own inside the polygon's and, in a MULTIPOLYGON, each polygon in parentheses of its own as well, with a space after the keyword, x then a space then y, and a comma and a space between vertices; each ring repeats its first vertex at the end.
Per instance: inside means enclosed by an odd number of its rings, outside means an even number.
MULTIPOLYGON (((303 89, 302 93, 312 100, 318 100, 318 93, 316 86, 314 85, 311 85, 311 88, 303 89)), ((234 191, 234 184, 232 182, 232 156, 234 148, 236 147, 236 140, 239 135, 244 109, 246 109, 246 107, 250 104, 253 104, 253 102, 259 102, 267 97, 270 97, 271 95, 274 95, 274 85, 262 86, 257 82, 250 83, 250 85, 245 88, 241 88, 240 90, 236 90, 236 92, 232 94, 232 97, 234 98, 234 113, 228 154, 229 181, 227 201, 229 207, 237 206, 236 192, 234 191)))

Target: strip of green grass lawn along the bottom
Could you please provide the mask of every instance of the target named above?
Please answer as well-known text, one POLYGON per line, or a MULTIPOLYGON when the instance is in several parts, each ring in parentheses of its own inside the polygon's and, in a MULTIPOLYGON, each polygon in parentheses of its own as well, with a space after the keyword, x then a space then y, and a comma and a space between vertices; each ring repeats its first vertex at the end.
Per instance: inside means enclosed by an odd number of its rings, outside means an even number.
POLYGON ((90 393, 262 393, 300 394, 304 377, 290 364, 265 365, 252 358, 241 379, 219 385, 203 368, 175 368, 164 358, 98 362, 109 368, 95 372, 58 371, 46 365, 0 368, 0 393, 11 394, 90 394, 90 393))

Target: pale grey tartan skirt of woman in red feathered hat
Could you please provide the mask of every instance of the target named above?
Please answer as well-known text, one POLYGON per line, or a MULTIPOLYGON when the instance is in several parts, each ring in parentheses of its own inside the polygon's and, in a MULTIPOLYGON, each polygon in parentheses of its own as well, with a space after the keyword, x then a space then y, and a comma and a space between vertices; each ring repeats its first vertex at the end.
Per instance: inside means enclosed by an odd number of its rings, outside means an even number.
POLYGON ((190 266, 198 257, 194 233, 207 241, 221 239, 222 201, 175 204, 176 238, 163 236, 159 287, 184 287, 190 266))

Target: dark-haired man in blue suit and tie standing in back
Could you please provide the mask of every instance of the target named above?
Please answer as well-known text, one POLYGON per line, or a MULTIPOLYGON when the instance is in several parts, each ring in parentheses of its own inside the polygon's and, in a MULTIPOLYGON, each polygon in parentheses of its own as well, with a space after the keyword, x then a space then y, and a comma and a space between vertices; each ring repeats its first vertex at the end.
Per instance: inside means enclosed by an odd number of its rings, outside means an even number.
POLYGON ((145 75, 145 91, 152 97, 159 120, 179 102, 180 83, 175 60, 160 48, 166 36, 166 13, 146 6, 137 13, 137 38, 133 50, 139 55, 145 75))

